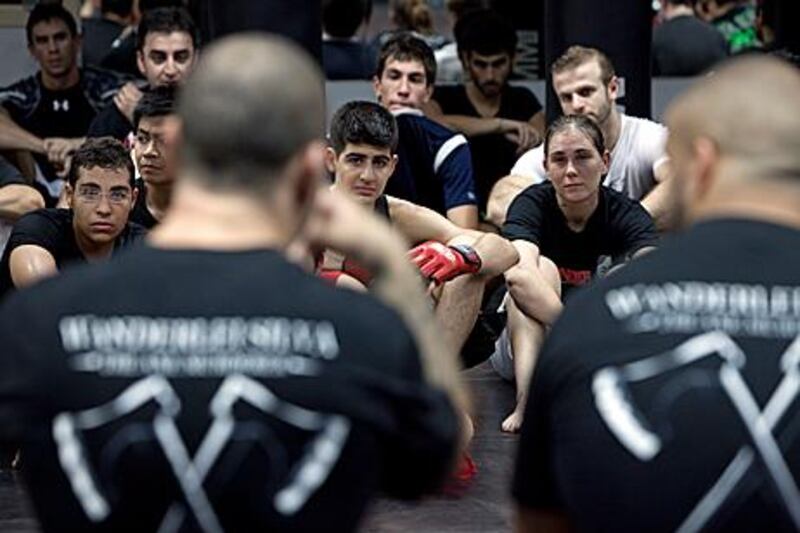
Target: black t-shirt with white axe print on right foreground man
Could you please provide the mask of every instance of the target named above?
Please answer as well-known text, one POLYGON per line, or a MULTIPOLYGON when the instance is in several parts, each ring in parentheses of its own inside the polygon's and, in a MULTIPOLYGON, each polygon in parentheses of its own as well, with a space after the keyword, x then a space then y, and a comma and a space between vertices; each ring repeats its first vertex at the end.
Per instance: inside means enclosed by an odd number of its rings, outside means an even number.
POLYGON ((513 484, 592 531, 800 527, 800 232, 716 220, 576 294, 513 484))

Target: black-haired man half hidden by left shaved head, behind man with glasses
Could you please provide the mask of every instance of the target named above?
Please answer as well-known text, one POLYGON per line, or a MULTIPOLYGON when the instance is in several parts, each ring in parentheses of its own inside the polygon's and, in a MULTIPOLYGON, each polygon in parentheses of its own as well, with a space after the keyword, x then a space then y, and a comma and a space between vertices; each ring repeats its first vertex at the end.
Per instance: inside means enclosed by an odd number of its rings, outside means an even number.
POLYGON ((175 89, 159 87, 148 91, 133 115, 136 138, 133 156, 141 179, 131 221, 150 229, 164 218, 175 183, 174 161, 166 141, 174 125, 175 89))

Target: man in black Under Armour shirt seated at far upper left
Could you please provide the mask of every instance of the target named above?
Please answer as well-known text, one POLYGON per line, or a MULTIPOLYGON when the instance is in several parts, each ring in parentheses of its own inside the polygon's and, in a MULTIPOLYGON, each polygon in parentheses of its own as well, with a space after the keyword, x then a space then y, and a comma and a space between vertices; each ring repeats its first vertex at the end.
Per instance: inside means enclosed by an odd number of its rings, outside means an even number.
POLYGON ((0 89, 0 149, 33 154, 36 186, 55 205, 71 153, 95 115, 123 83, 120 76, 78 67, 80 36, 60 4, 37 4, 26 25, 28 50, 39 72, 0 89))

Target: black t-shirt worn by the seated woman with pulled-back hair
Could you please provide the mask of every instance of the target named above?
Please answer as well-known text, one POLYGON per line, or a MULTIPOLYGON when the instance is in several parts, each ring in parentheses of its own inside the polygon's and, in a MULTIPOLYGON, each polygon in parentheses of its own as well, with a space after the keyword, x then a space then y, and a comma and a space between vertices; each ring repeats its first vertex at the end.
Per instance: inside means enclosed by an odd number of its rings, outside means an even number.
POLYGON ((604 186, 599 194, 586 227, 576 232, 558 207, 553 184, 531 185, 508 208, 503 236, 538 246, 558 267, 565 291, 585 285, 606 258, 624 260, 658 240, 653 220, 639 202, 604 186))

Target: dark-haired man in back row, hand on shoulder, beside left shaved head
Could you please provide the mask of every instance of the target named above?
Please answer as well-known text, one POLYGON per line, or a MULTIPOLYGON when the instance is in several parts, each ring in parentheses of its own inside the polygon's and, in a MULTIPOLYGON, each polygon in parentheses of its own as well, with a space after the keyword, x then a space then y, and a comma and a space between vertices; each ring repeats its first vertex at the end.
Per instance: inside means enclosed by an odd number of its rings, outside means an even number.
POLYGON ((133 114, 143 91, 182 84, 197 62, 197 28, 185 9, 163 7, 145 12, 136 39, 136 62, 147 83, 125 84, 114 96, 114 105, 92 121, 89 137, 126 140, 134 130, 133 114))

